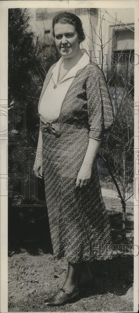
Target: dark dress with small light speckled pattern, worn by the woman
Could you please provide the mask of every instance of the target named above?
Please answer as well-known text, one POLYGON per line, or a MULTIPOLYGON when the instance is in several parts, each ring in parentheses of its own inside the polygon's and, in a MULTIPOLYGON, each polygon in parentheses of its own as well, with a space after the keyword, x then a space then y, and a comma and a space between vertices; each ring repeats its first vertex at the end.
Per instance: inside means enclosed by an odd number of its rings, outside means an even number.
MULTIPOLYGON (((41 97, 52 76, 46 75, 41 97)), ((39 101, 40 105, 40 101, 39 101)), ((113 123, 104 74, 96 64, 76 73, 52 123, 40 115, 43 173, 54 258, 71 263, 111 258, 110 220, 101 194, 97 160, 90 184, 75 188, 89 138, 102 139, 113 123)))

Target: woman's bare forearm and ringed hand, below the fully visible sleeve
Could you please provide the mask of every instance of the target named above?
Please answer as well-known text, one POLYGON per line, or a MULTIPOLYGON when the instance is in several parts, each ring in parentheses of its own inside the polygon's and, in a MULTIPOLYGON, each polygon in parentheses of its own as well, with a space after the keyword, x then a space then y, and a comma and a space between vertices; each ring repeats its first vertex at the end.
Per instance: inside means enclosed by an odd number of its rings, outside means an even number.
POLYGON ((83 163, 78 172, 76 187, 83 187, 84 185, 89 184, 91 174, 92 174, 92 165, 101 144, 101 140, 96 140, 93 138, 89 138, 88 148, 83 159, 83 163))

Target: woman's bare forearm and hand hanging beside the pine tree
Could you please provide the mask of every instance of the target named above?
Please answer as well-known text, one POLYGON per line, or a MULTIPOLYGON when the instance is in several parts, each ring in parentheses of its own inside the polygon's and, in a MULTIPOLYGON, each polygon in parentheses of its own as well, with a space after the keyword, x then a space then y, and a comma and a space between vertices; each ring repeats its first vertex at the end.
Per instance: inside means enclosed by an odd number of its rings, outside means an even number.
POLYGON ((38 146, 37 146, 33 171, 37 177, 42 178, 42 132, 41 130, 39 131, 38 146))

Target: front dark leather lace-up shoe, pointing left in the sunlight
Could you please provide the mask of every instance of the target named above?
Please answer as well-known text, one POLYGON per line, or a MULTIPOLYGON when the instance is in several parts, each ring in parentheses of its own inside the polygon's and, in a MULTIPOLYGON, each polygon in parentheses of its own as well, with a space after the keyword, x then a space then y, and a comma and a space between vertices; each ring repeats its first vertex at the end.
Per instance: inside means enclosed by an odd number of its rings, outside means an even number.
POLYGON ((45 306, 59 306, 63 305, 67 302, 71 302, 72 300, 76 300, 78 298, 79 290, 76 288, 70 293, 67 293, 66 290, 60 289, 57 291, 56 295, 51 296, 50 298, 44 301, 45 306))

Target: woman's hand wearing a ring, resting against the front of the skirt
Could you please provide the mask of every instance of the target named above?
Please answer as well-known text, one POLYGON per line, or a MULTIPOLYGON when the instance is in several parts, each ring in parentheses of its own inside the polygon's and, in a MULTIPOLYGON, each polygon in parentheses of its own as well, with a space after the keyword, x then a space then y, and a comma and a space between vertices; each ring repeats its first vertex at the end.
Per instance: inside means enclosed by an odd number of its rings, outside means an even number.
POLYGON ((89 184, 92 174, 91 169, 92 169, 91 165, 82 163, 82 166, 78 172, 76 187, 82 188, 89 184))

